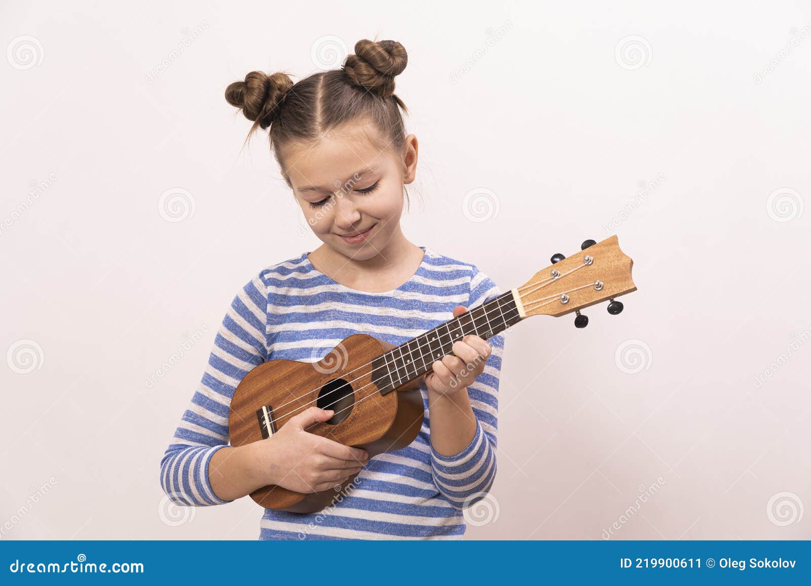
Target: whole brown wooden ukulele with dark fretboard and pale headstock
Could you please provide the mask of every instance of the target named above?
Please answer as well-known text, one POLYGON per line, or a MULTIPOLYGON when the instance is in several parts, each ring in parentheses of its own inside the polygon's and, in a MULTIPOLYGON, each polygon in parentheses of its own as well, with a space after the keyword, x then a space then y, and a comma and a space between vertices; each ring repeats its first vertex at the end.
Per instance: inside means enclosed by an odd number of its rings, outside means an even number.
MULTIPOLYGON (((580 310, 609 299, 609 314, 623 310, 615 301, 637 288, 631 279, 633 260, 624 255, 616 236, 596 243, 586 240, 581 252, 551 257, 552 265, 526 284, 493 297, 424 334, 393 346, 367 334, 341 341, 317 362, 270 360, 251 370, 239 383, 228 418, 234 447, 270 438, 290 417, 311 405, 334 409, 333 417, 308 428, 369 456, 395 451, 414 441, 423 426, 420 387, 431 365, 453 354, 453 342, 474 334, 483 339, 528 318, 575 312, 575 327, 589 319, 580 310)), ((332 490, 298 493, 268 485, 251 493, 255 503, 296 513, 321 511, 333 503, 354 476, 332 490)))

